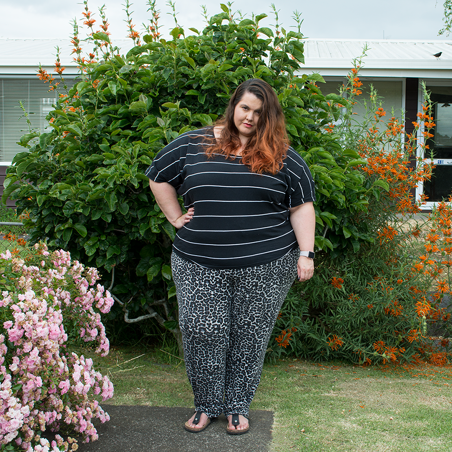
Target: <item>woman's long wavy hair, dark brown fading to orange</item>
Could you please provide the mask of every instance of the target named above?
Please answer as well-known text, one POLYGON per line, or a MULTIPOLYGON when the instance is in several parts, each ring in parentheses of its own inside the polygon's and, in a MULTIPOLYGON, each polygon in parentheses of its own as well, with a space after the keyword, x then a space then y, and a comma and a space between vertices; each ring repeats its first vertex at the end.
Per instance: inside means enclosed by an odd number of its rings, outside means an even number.
POLYGON ((256 134, 250 137, 242 151, 242 162, 254 173, 276 174, 283 166, 289 138, 278 97, 273 88, 260 78, 246 80, 237 87, 224 115, 215 123, 215 126, 222 127, 220 137, 213 139, 213 146, 206 149, 206 154, 209 157, 212 154, 223 154, 230 158, 242 146, 234 123, 234 111, 246 92, 261 100, 262 108, 256 124, 256 134))

